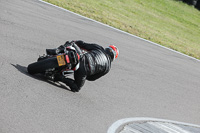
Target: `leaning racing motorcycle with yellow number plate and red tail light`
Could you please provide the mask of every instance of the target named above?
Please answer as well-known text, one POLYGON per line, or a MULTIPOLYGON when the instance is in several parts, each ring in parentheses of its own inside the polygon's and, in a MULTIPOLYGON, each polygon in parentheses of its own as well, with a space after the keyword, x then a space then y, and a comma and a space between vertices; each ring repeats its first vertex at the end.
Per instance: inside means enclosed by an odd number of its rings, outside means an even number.
POLYGON ((64 47, 58 54, 50 54, 52 49, 46 49, 46 55, 39 56, 37 62, 28 65, 28 73, 40 73, 52 80, 56 74, 62 74, 65 77, 73 74, 79 68, 80 57, 85 53, 77 47, 72 44, 64 47))

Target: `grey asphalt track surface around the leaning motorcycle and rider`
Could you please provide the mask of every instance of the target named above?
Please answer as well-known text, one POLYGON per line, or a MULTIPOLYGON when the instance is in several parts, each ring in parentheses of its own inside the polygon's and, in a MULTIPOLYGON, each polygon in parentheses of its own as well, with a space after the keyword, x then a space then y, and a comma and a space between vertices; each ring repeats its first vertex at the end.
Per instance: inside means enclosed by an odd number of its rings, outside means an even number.
POLYGON ((103 133, 154 117, 200 124, 200 62, 38 0, 0 0, 0 132, 103 133), (79 93, 31 76, 46 48, 84 40, 120 49, 112 70, 79 93))

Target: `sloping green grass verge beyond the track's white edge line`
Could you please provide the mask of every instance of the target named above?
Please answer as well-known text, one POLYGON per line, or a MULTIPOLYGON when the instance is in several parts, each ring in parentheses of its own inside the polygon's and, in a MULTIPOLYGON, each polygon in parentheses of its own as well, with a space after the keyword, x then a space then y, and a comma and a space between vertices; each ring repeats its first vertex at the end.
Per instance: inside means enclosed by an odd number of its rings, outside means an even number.
POLYGON ((200 59, 200 11, 178 0, 45 0, 200 59))

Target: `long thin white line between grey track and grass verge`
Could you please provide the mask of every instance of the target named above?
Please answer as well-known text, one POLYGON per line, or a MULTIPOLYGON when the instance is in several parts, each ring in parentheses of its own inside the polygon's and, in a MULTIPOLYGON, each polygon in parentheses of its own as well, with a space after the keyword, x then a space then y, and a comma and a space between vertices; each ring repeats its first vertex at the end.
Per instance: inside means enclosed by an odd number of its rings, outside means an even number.
POLYGON ((98 23, 98 24, 104 25, 104 26, 109 27, 109 28, 111 28, 111 29, 117 30, 117 31, 119 31, 119 32, 125 33, 125 34, 127 34, 127 35, 132 36, 132 37, 135 37, 135 38, 141 39, 141 40, 143 40, 143 41, 149 42, 149 43, 154 44, 154 45, 156 45, 156 46, 159 46, 159 47, 162 47, 162 48, 168 49, 168 50, 170 50, 170 51, 173 51, 173 52, 175 52, 175 53, 181 54, 181 55, 183 55, 183 56, 189 57, 189 58, 191 58, 191 59, 194 59, 194 60, 200 62, 199 59, 196 59, 196 58, 191 57, 191 56, 189 56, 189 55, 186 55, 186 54, 183 54, 183 53, 181 53, 181 52, 175 51, 175 50, 173 50, 173 49, 167 48, 167 47, 162 46, 162 45, 160 45, 160 44, 157 44, 157 43, 155 43, 155 42, 152 42, 152 41, 146 40, 146 39, 144 39, 144 38, 138 37, 138 36, 136 36, 136 35, 130 34, 130 33, 128 33, 128 32, 125 32, 125 31, 119 30, 119 29, 117 29, 117 28, 114 28, 114 27, 109 26, 109 25, 107 25, 107 24, 101 23, 101 22, 99 22, 99 21, 96 21, 96 20, 93 20, 93 19, 87 18, 87 17, 82 16, 82 15, 80 15, 80 14, 77 14, 77 13, 74 13, 74 12, 72 12, 72 11, 69 11, 69 10, 67 10, 67 9, 65 9, 65 8, 62 8, 62 7, 56 6, 56 5, 54 5, 54 4, 51 4, 51 3, 45 2, 45 1, 43 1, 43 0, 38 0, 38 1, 40 1, 40 2, 42 2, 42 3, 45 3, 45 4, 48 4, 48 5, 51 5, 51 6, 53 6, 53 7, 59 8, 59 9, 64 10, 64 11, 66 11, 66 12, 70 12, 70 13, 75 14, 75 15, 77 15, 77 16, 80 16, 80 17, 82 17, 82 18, 85 18, 85 19, 91 20, 91 21, 96 22, 96 23, 98 23))

